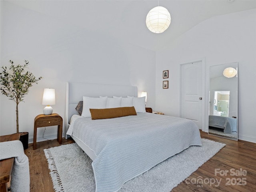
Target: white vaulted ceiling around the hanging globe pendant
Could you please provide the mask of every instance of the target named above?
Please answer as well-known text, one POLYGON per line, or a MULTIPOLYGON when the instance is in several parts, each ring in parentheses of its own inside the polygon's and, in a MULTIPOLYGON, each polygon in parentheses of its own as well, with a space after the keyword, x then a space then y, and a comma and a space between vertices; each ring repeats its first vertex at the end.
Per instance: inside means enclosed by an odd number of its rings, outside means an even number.
POLYGON ((158 0, 33 0, 9 1, 46 14, 67 24, 104 33, 130 43, 159 50, 200 22, 243 10, 256 8, 256 0, 159 0, 159 6, 171 15, 169 28, 154 34, 146 27, 148 11, 158 0))

